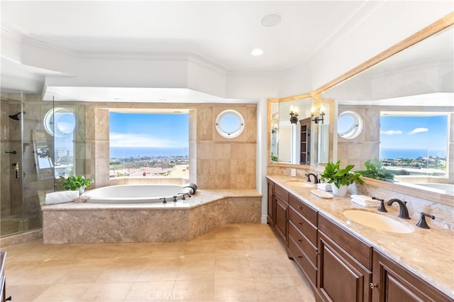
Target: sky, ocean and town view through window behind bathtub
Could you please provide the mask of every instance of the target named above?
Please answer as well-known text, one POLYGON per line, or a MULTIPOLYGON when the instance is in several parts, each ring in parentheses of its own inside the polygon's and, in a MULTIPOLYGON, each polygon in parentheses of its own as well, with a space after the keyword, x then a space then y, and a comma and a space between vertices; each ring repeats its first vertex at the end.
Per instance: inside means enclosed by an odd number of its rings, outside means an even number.
POLYGON ((111 178, 189 178, 189 113, 109 112, 111 178))

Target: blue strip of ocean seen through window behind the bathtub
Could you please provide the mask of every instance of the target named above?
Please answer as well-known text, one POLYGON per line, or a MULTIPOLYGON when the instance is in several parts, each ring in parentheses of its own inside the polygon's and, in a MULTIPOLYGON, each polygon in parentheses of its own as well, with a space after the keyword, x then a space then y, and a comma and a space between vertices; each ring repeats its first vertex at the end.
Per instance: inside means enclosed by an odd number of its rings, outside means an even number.
POLYGON ((110 158, 143 156, 189 156, 189 149, 187 147, 110 147, 110 158))

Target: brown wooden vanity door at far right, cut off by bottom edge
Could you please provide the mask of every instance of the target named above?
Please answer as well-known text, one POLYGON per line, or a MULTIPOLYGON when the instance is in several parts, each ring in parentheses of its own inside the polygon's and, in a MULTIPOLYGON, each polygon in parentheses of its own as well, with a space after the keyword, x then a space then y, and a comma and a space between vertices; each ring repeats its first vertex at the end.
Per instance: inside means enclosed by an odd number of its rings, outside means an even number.
POLYGON ((373 301, 453 301, 418 276, 374 251, 373 301))

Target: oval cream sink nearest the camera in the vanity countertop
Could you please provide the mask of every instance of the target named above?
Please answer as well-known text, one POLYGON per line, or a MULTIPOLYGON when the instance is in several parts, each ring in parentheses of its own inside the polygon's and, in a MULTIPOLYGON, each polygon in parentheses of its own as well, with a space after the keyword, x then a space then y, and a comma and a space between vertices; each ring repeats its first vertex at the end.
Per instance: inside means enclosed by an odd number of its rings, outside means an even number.
POLYGON ((404 221, 399 221, 397 219, 390 218, 379 213, 360 210, 348 210, 344 211, 343 215, 345 215, 348 219, 354 221, 355 223, 365 225, 369 228, 375 228, 376 230, 384 230, 390 233, 404 234, 414 232, 413 225, 409 225, 404 221))

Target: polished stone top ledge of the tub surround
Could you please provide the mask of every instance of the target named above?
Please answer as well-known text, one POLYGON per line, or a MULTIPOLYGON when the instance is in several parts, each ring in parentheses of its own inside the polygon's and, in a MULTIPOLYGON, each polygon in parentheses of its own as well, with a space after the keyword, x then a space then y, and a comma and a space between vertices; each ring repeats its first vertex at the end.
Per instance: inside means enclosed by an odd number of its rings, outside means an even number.
POLYGON ((262 195, 255 189, 225 189, 225 190, 206 190, 199 189, 191 198, 186 198, 185 201, 179 199, 176 203, 167 201, 167 203, 57 203, 41 205, 43 211, 67 211, 67 210, 133 210, 133 209, 156 209, 156 210, 175 210, 175 209, 188 209, 201 206, 205 203, 217 201, 223 198, 235 197, 262 197, 262 195))

